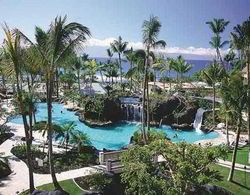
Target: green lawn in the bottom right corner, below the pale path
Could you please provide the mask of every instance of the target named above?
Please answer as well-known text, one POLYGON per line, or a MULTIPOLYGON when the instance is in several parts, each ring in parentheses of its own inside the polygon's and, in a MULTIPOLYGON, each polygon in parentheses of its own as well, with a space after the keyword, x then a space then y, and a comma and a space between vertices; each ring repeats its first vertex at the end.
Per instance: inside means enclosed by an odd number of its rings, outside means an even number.
POLYGON ((250 173, 246 174, 245 180, 245 172, 235 170, 233 178, 234 182, 228 182, 227 177, 230 170, 229 168, 222 167, 220 165, 213 165, 213 168, 219 171, 223 177, 222 181, 214 182, 214 185, 221 186, 236 195, 250 194, 250 173))

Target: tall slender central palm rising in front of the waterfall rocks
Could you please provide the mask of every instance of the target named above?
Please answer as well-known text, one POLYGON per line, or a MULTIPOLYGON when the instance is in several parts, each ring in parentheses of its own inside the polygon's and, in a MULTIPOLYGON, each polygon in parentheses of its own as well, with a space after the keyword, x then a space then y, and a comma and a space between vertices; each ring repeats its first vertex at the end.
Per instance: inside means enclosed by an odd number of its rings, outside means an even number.
POLYGON ((150 128, 150 118, 149 118, 149 90, 148 90, 148 69, 150 66, 150 57, 151 49, 157 47, 165 47, 166 42, 163 40, 158 40, 158 35, 160 33, 161 23, 158 17, 150 16, 149 20, 144 20, 142 25, 143 32, 143 44, 145 47, 146 58, 145 58, 145 70, 144 70, 144 82, 143 82, 143 97, 142 97, 142 131, 143 139, 146 143, 146 132, 145 132, 145 118, 147 119, 147 131, 150 128), (147 117, 145 117, 145 103, 147 99, 147 117))

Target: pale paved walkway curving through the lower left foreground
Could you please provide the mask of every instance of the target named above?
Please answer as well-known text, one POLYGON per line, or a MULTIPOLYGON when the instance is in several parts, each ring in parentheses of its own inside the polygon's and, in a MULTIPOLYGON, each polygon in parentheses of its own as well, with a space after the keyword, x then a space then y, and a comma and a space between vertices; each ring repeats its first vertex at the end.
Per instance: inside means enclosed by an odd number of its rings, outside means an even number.
MULTIPOLYGON (((4 152, 4 156, 9 159, 11 170, 13 171, 8 177, 0 180, 0 195, 14 195, 17 192, 22 192, 29 188, 29 174, 27 165, 16 156, 14 156, 10 150, 13 146, 18 144, 21 137, 24 136, 22 125, 11 125, 15 127, 13 133, 15 134, 11 139, 5 141, 0 145, 0 152, 4 152)), ((34 136, 36 137, 36 136, 34 136)), ((56 174, 58 181, 81 177, 92 174, 102 169, 101 166, 84 167, 81 169, 65 171, 56 174)), ((51 183, 50 174, 34 174, 35 186, 51 183)))

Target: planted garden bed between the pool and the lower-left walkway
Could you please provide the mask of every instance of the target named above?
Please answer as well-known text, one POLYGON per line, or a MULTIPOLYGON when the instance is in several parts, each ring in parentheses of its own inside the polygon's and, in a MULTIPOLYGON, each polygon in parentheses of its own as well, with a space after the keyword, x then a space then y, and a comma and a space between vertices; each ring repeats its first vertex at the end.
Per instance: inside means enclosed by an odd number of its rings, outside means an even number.
MULTIPOLYGON (((11 152, 23 160, 25 163, 27 162, 25 145, 18 145, 12 148, 11 152)), ((36 147, 32 147, 32 162, 33 169, 35 173, 41 174, 49 174, 49 163, 48 160, 44 160, 47 153, 42 152, 36 147), (37 159, 43 159, 43 166, 39 166, 37 159)), ((68 152, 63 153, 54 153, 54 165, 55 171, 57 173, 68 171, 72 169, 79 169, 82 167, 87 167, 91 165, 95 165, 97 162, 97 156, 91 150, 85 152, 78 152, 75 149, 69 150, 68 152)))

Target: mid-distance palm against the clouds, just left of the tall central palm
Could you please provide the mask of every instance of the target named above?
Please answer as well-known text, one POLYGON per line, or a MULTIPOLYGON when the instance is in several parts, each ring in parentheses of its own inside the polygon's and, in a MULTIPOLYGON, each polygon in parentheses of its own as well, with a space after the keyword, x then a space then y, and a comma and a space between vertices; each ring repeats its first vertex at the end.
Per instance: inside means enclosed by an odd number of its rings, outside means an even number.
MULTIPOLYGON (((118 59, 119 59, 119 68, 120 68, 120 82, 122 83, 122 61, 121 61, 121 55, 124 53, 126 50, 126 47, 128 45, 128 42, 123 42, 122 37, 119 36, 118 40, 114 40, 113 43, 110 44, 111 50, 114 53, 118 54, 118 59)), ((107 50, 108 51, 108 50, 107 50)), ((109 52, 108 52, 109 54, 109 52)))

